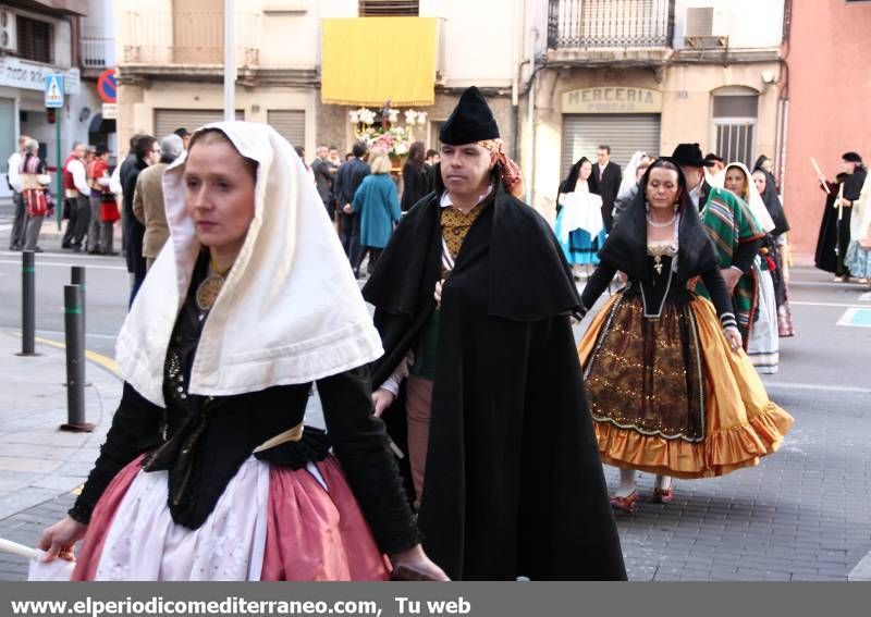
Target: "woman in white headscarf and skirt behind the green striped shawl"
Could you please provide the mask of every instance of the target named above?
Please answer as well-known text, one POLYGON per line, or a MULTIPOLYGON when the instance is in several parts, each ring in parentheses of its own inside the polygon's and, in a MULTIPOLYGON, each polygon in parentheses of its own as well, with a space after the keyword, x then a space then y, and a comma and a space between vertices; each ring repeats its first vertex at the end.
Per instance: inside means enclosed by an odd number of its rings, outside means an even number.
POLYGON ((772 250, 775 250, 776 246, 771 237, 771 232, 775 226, 774 221, 756 189, 753 177, 747 165, 744 163, 727 164, 723 178, 724 188, 747 202, 753 218, 765 232, 765 240, 756 259, 756 266, 759 269, 759 317, 750 329, 747 355, 750 356, 750 361, 758 372, 773 374, 777 372, 781 361, 777 303, 774 295, 774 280, 771 274, 776 268, 772 256, 772 250))

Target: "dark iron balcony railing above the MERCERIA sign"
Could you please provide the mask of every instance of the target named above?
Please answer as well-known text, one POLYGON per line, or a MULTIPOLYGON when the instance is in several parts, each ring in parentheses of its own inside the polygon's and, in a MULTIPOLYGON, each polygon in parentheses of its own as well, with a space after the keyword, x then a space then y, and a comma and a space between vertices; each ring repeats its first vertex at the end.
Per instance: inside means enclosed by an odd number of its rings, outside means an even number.
POLYGON ((671 45, 674 0, 550 0, 548 48, 671 45))

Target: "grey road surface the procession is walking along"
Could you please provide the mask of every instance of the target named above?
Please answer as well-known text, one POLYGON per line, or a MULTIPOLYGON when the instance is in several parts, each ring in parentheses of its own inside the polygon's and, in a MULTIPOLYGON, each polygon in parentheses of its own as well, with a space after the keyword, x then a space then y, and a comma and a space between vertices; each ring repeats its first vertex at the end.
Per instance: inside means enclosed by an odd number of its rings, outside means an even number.
MULTIPOLYGON (((46 248, 37 257, 39 333, 62 340, 62 285, 71 264, 85 264, 87 345, 111 356, 128 289, 123 262, 46 248)), ((20 254, 0 251, 0 326, 20 328, 20 254)), ((618 516, 630 579, 846 580, 871 551, 871 326, 843 323, 851 311, 871 314, 871 293, 800 268, 792 305, 796 336, 781 340, 780 373, 763 378, 796 419, 781 452, 724 478, 676 481, 671 504, 645 499, 618 516)), ((615 488, 616 470, 605 474, 615 488)), ((642 493, 651 483, 639 477, 642 493)), ((0 536, 32 542, 71 501, 59 495, 0 521, 0 536)), ((20 564, 0 559, 0 579, 22 577, 20 564)))

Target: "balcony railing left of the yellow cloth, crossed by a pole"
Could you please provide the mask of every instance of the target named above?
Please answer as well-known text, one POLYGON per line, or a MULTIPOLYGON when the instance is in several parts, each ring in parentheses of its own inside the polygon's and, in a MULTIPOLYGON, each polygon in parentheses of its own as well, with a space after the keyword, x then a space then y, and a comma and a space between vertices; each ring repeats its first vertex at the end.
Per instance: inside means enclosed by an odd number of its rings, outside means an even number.
MULTIPOLYGON (((123 62, 131 64, 220 64, 224 57, 221 12, 152 11, 123 14, 123 62)), ((260 16, 235 14, 236 64, 259 60, 260 16)))

